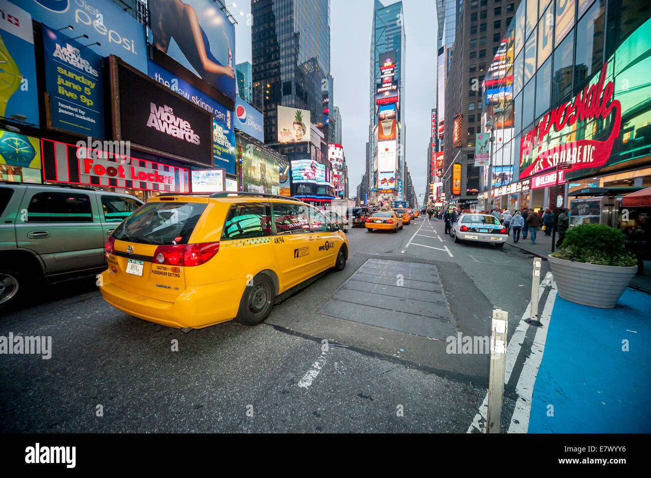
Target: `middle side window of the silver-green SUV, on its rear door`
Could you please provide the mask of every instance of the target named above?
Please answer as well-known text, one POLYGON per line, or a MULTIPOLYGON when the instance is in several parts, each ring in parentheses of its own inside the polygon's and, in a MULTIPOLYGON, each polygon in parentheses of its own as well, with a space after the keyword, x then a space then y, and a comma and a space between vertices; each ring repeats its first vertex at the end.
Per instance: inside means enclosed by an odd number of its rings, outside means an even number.
POLYGON ((78 193, 36 193, 27 207, 27 222, 92 222, 90 197, 78 193))

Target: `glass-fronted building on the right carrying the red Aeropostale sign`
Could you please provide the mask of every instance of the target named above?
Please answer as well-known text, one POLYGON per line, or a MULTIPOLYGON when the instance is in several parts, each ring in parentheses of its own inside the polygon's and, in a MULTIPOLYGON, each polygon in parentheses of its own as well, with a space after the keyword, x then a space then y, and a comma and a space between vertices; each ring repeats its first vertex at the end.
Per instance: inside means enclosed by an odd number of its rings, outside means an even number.
POLYGON ((480 200, 615 225, 600 195, 651 186, 651 2, 523 0, 503 49, 483 90, 498 128, 480 200))

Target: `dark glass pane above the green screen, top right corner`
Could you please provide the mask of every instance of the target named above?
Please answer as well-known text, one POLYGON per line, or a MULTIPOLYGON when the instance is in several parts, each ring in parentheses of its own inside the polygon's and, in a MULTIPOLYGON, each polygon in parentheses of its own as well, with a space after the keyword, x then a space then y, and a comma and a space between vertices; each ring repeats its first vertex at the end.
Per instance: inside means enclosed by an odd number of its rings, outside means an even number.
MULTIPOLYGON (((581 7, 579 4, 579 10, 581 7)), ((651 18, 651 0, 609 0, 607 17, 606 55, 610 57, 631 33, 651 18)))

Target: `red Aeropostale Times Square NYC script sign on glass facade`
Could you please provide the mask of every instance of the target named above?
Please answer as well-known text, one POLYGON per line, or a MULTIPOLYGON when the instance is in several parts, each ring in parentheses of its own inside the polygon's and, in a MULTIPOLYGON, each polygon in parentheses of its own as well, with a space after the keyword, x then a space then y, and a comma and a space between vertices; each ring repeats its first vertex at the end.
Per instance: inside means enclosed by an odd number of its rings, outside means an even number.
POLYGON ((555 167, 557 163, 569 163, 570 171, 605 165, 622 121, 622 106, 613 99, 615 84, 613 81, 605 83, 607 68, 608 63, 605 63, 597 83, 587 85, 574 101, 551 110, 530 132, 523 135, 520 140, 520 177, 535 175, 555 167), (589 132, 590 123, 599 119, 605 122, 611 113, 612 129, 605 141, 574 140, 577 127, 589 132), (582 124, 578 125, 579 122, 582 124), (561 144, 562 136, 569 140, 561 144))

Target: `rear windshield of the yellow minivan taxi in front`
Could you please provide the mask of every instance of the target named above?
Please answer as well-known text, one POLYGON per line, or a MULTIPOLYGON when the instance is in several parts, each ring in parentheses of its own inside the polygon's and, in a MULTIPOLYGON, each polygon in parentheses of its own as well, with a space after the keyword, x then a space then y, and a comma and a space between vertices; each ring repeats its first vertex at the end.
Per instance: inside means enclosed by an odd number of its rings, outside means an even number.
POLYGON ((124 219, 113 237, 159 246, 187 244, 205 208, 205 203, 148 203, 124 219))

